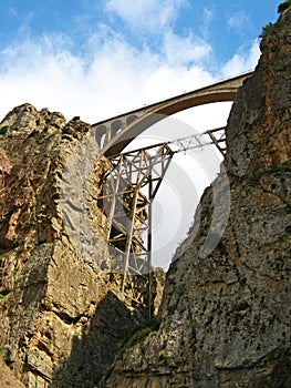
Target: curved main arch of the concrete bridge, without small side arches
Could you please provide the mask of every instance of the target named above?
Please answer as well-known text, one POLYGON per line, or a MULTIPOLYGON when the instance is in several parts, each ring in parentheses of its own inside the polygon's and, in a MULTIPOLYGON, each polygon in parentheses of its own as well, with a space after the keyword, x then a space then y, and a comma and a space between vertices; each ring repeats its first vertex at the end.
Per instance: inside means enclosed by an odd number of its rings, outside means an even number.
MULTIPOLYGON (((233 101, 238 89, 251 74, 252 72, 221 81, 212 85, 201 88, 196 91, 185 93, 123 115, 125 121, 127 118, 133 115, 135 115, 136 119, 132 123, 131 120, 128 120, 127 125, 121 132, 114 134, 107 144, 104 144, 102 153, 106 156, 121 153, 122 150, 143 131, 157 123, 158 121, 165 119, 165 116, 184 111, 188 108, 194 108, 202 104, 233 101)), ((117 116, 114 120, 121 118, 122 116, 117 116)))

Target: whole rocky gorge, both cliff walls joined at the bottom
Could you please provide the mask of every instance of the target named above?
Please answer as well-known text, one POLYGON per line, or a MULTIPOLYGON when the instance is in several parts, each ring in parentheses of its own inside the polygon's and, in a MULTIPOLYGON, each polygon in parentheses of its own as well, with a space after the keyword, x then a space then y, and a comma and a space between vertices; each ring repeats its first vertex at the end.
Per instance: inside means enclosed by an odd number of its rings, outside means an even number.
POLYGON ((177 249, 158 325, 111 272, 91 126, 30 104, 1 122, 0 347, 25 387, 291 387, 290 8, 261 50, 228 121, 227 180, 177 249), (225 233, 201 253, 227 192, 225 233))

